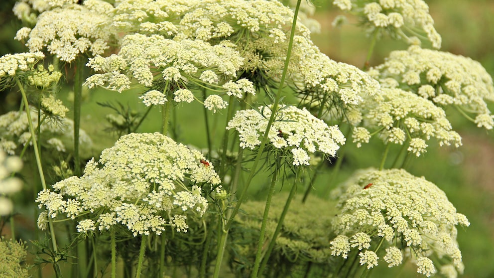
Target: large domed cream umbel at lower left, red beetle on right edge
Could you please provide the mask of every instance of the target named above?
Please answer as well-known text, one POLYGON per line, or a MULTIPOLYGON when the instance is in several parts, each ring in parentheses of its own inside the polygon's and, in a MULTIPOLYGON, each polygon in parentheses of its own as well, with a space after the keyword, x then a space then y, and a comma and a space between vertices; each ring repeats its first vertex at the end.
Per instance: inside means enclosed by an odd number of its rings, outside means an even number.
POLYGON ((84 218, 77 226, 81 233, 118 224, 134 236, 159 235, 167 226, 186 232, 186 220, 202 216, 208 206, 204 182, 221 180, 199 151, 159 133, 132 133, 103 150, 98 162, 90 160, 82 177, 54 184, 36 201, 49 217, 84 218))

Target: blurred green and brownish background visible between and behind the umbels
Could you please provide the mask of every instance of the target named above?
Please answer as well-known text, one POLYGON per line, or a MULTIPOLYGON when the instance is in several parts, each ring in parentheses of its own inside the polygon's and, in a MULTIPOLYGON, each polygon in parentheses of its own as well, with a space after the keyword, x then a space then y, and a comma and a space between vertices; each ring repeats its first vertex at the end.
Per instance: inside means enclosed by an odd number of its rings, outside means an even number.
MULTIPOLYGON (((323 1, 319 1, 323 2, 323 1)), ((321 50, 334 60, 347 62, 362 67, 368 51, 370 38, 364 35, 359 27, 347 24, 340 29, 333 28, 331 23, 340 12, 328 3, 322 3, 313 16, 321 23, 321 33, 313 34, 315 43, 321 50)), ((494 75, 494 1, 492 0, 430 0, 427 1, 430 13, 435 19, 435 27, 442 35, 443 51, 471 57, 481 62, 491 75, 494 75)), ((0 55, 26 51, 25 47, 13 40, 15 32, 21 24, 13 16, 11 7, 14 0, 3 0, 0 6, 0 55)), ((352 22, 352 19, 350 18, 352 22)), ((355 21, 355 20, 354 20, 355 21)), ((406 49, 407 45, 383 37, 376 44, 371 66, 382 62, 391 50, 406 49)), ((95 123, 105 122, 109 109, 101 108, 96 102, 115 99, 115 92, 92 92, 84 104, 83 123, 85 129, 95 139, 95 151, 113 145, 117 135, 102 130, 95 123), (96 140, 97 139, 97 140, 96 140)), ((124 92, 119 101, 129 105, 135 111, 144 112, 145 107, 137 101, 137 95, 124 92)), ((63 98, 63 97, 62 97, 63 98)), ((66 97, 65 97, 66 98, 66 97)), ((70 102, 65 99, 70 108, 70 102)), ((0 92, 0 112, 10 107, 7 92, 0 92)), ((491 105, 494 111, 494 106, 491 105)), ((198 104, 179 106, 176 119, 186 125, 177 126, 179 140, 186 144, 206 147, 204 119, 198 104)), ((452 113, 452 111, 447 111, 452 113)), ((150 119, 159 119, 160 112, 153 109, 150 119)), ((217 114, 210 119, 213 128, 224 126, 224 115, 217 114)), ((436 148, 431 144, 428 152, 414 159, 407 168, 412 174, 425 176, 437 184, 448 195, 458 211, 467 215, 471 226, 460 229, 458 241, 463 252, 465 274, 468 278, 494 277, 494 136, 493 132, 478 129, 457 115, 453 115, 453 127, 463 138, 463 146, 458 149, 436 148)), ((159 131, 159 121, 147 121, 139 132, 159 131)), ((360 149, 348 148, 341 174, 338 180, 351 175, 353 169, 377 165, 381 159, 382 144, 371 142, 360 149)), ((95 155, 90 154, 90 155, 95 155)), ((329 167, 329 166, 328 166, 329 167)), ((328 175, 321 175, 314 186, 313 194, 325 191, 328 175)), ((262 192, 264 186, 261 179, 254 183, 251 193, 262 192)), ((288 186, 283 190, 289 190, 288 186)), ((315 212, 320 213, 320 212, 315 212)), ((32 223, 32 222, 31 222, 32 223)), ((33 228, 33 227, 32 227, 33 228)), ((399 275, 388 272, 381 266, 382 277, 422 277, 412 266, 399 275), (391 276, 392 275, 392 276, 391 276)), ((378 273, 373 273, 379 277, 378 273)))

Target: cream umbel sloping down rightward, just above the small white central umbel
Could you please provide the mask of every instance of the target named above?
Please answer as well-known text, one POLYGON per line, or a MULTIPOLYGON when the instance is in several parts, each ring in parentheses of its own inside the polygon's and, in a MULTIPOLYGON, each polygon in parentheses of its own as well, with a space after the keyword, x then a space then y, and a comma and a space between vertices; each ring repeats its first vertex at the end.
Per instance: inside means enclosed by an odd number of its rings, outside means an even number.
MULTIPOLYGON (((305 105, 323 106, 324 114, 342 119, 345 111, 364 98, 380 99, 379 83, 355 66, 331 60, 305 37, 294 40, 290 85, 305 105)), ((323 115, 319 115, 323 116, 323 115)))

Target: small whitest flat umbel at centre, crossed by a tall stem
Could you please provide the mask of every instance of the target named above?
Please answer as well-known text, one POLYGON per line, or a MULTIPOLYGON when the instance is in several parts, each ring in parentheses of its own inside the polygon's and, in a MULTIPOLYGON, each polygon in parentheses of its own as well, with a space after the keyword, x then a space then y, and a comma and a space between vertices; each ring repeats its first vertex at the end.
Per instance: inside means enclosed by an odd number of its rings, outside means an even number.
MULTIPOLYGON (((227 130, 237 130, 241 147, 254 149, 261 143, 270 116, 270 107, 241 110, 228 123, 227 130)), ((285 106, 277 111, 267 137, 273 147, 289 151, 287 155, 297 166, 309 165, 309 153, 316 151, 336 156, 340 145, 345 143, 338 126, 328 127, 305 108, 294 106, 285 106)))

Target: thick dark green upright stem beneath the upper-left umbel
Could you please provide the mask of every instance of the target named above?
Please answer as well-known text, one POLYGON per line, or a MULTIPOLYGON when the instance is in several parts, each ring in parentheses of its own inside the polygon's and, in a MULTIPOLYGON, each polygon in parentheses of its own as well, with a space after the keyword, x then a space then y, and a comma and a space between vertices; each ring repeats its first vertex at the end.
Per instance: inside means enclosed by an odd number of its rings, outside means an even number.
POLYGON ((79 129, 81 127, 82 82, 84 74, 83 58, 75 61, 74 76, 74 169, 76 176, 81 175, 81 160, 79 156, 79 129))

